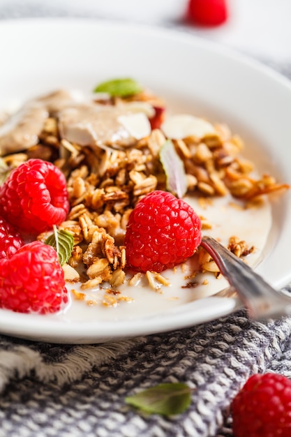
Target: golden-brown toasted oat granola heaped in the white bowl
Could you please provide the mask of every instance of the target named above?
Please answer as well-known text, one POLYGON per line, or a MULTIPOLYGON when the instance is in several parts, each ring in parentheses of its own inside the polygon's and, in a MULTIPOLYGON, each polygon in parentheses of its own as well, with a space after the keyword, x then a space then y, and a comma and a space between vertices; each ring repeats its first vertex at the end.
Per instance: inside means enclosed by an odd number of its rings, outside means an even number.
MULTIPOLYGON (((145 92, 98 103, 121 105, 128 101, 147 102, 153 108, 163 106, 156 96, 145 92)), ((205 205, 211 198, 225 195, 250 202, 260 195, 288 188, 269 175, 253 177, 253 163, 241 157, 244 148, 241 138, 232 135, 224 124, 213 127, 213 132, 202 137, 172 139, 184 163, 188 195, 196 196, 205 205)), ((82 290, 102 283, 109 283, 112 290, 118 290, 126 281, 124 235, 128 216, 143 195, 167 189, 159 158, 166 140, 159 126, 152 128, 147 137, 123 149, 114 142, 98 147, 80 145, 61 138, 57 114, 49 113, 36 145, 2 157, 9 168, 29 158, 41 158, 53 162, 66 175, 70 212, 60 228, 73 235, 74 249, 64 269, 66 279, 80 281, 82 290)), ((204 217, 202 228, 211 228, 204 217)), ((38 239, 45 237, 40 235, 38 239)), ((247 248, 238 237, 230 239, 229 249, 239 257, 254 250, 247 248)), ((199 261, 202 272, 219 274, 214 260, 203 249, 199 261)), ((168 285, 162 275, 153 275, 149 272, 147 278, 151 286, 153 281, 168 285)), ((135 280, 136 275, 132 283, 135 280)))

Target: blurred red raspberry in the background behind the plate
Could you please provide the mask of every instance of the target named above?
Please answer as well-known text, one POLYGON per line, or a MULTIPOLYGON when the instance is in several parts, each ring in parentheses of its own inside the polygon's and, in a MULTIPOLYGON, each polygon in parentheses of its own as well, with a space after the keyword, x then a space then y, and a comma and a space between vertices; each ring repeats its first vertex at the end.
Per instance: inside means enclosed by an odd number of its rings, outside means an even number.
POLYGON ((190 0, 187 18, 194 24, 218 26, 227 20, 226 0, 190 0))

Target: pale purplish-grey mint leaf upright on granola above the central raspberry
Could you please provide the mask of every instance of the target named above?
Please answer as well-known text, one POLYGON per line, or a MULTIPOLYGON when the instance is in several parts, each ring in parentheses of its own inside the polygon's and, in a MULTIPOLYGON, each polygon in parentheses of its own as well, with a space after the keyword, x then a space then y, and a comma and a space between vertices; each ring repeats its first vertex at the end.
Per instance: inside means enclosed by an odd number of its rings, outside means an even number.
POLYGON ((184 163, 177 154, 171 140, 167 140, 160 150, 160 161, 166 175, 166 188, 178 198, 187 191, 187 179, 184 163))

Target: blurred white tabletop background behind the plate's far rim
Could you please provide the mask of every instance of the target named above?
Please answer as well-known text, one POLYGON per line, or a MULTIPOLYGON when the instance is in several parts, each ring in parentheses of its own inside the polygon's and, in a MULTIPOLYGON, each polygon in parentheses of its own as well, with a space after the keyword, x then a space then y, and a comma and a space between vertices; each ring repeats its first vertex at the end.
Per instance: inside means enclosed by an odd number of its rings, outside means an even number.
POLYGON ((0 20, 88 17, 174 27, 234 47, 275 68, 279 66, 283 72, 290 72, 291 0, 202 0, 206 3, 222 1, 227 6, 226 20, 215 26, 189 21, 190 1, 0 0, 0 20))

